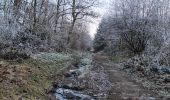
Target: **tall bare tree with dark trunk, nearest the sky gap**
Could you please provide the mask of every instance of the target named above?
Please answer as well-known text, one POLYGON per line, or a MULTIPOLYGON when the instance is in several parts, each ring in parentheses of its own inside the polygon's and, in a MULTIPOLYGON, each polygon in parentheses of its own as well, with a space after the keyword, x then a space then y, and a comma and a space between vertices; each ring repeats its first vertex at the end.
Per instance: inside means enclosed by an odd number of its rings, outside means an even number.
POLYGON ((95 14, 91 10, 93 6, 95 6, 96 0, 85 1, 85 0, 71 0, 71 26, 68 36, 68 45, 70 48, 74 48, 75 44, 75 34, 73 32, 74 26, 77 20, 83 19, 87 16, 94 17, 95 14))

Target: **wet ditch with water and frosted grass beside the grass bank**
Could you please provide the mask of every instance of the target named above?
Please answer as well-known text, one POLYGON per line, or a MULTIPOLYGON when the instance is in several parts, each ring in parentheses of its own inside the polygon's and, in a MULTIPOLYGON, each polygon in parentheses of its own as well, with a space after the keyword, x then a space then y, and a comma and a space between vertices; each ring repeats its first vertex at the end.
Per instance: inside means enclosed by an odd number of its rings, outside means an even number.
MULTIPOLYGON (((90 56, 92 57, 92 56, 90 56)), ((63 75, 60 81, 55 83, 55 97, 57 100, 94 100, 95 97, 89 94, 85 78, 91 67, 91 58, 82 58, 80 62, 63 75)))

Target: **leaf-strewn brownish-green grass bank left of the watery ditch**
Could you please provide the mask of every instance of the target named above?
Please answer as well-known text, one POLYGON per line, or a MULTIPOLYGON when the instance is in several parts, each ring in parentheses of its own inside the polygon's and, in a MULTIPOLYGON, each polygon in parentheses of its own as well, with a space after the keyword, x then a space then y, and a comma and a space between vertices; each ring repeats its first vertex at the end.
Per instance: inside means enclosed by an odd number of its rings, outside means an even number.
POLYGON ((22 63, 0 60, 0 100, 47 100, 52 76, 72 63, 65 57, 59 61, 54 57, 50 61, 27 59, 22 63))

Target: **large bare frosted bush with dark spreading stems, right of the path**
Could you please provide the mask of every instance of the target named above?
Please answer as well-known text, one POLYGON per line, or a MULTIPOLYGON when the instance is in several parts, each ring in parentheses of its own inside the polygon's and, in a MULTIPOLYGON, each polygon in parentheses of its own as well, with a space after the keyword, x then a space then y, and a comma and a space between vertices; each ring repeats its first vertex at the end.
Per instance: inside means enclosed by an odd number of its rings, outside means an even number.
POLYGON ((168 0, 119 0, 111 6, 109 17, 103 19, 109 20, 103 25, 107 27, 99 27, 105 30, 104 40, 114 43, 118 38, 122 50, 140 54, 151 45, 160 48, 163 40, 170 39, 168 0))

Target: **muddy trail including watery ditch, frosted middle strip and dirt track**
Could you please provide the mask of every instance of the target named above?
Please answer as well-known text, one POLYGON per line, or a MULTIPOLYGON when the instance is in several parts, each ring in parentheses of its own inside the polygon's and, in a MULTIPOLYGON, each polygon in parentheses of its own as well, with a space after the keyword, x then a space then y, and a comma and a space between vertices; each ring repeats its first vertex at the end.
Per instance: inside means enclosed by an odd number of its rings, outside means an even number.
POLYGON ((57 100, 158 99, 155 93, 132 80, 108 56, 101 54, 92 56, 91 66, 72 66, 55 82, 53 91, 57 100))

